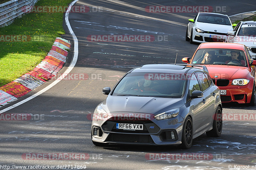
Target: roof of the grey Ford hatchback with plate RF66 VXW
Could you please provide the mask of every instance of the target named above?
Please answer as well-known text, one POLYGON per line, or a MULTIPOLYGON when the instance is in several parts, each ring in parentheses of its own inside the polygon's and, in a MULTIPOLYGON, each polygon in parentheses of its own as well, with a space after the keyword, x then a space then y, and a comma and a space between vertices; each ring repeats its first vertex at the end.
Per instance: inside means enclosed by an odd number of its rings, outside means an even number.
MULTIPOLYGON (((198 66, 198 65, 197 65, 198 66)), ((203 71, 200 68, 191 66, 179 65, 179 64, 147 64, 141 67, 137 67, 131 71, 131 73, 173 73, 173 74, 186 74, 188 72, 203 71)))

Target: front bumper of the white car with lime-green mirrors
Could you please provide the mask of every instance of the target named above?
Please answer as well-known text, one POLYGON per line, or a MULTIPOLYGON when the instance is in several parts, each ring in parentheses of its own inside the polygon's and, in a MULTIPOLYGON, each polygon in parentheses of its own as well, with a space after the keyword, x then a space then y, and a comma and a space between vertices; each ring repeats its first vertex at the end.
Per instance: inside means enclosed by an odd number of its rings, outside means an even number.
POLYGON ((220 35, 218 33, 199 33, 193 29, 193 42, 206 43, 206 42, 225 42, 227 35, 220 35), (220 36, 220 38, 211 38, 210 35, 220 36))

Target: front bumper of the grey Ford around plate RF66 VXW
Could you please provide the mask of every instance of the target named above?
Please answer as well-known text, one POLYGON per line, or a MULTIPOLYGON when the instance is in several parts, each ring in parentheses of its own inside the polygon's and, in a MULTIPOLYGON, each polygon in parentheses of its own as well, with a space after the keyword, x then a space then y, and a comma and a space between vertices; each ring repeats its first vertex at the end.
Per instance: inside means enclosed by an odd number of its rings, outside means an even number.
MULTIPOLYGON (((151 115, 152 117, 152 115, 151 115)), ((184 119, 176 116, 171 119, 156 120, 93 120, 92 141, 112 144, 134 145, 179 145, 181 144, 184 119), (116 123, 143 124, 143 131, 116 129, 116 123), (153 128, 152 128, 153 127, 153 128), (94 128, 100 129, 100 136, 93 135, 94 128), (151 129, 152 128, 152 129, 151 129), (173 132, 175 138, 173 139, 173 132)))

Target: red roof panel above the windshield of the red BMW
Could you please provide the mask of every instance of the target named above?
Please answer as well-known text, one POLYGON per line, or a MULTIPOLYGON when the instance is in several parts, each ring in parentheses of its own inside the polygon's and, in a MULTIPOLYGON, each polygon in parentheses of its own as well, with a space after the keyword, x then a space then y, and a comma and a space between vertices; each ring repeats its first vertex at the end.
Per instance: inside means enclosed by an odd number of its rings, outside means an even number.
POLYGON ((244 50, 244 45, 243 44, 237 44, 237 43, 222 43, 222 42, 201 43, 199 45, 199 49, 204 49, 204 48, 221 48, 221 49, 244 50))

